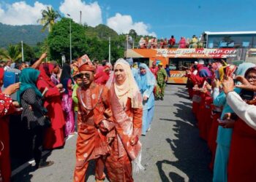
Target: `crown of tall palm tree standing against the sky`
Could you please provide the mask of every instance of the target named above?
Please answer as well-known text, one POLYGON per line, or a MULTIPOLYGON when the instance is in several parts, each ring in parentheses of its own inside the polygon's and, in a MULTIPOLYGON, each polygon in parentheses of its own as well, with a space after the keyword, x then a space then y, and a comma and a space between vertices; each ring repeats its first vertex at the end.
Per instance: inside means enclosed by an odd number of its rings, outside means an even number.
POLYGON ((59 17, 61 15, 59 15, 58 11, 55 11, 53 7, 47 7, 47 9, 42 10, 42 18, 37 20, 37 22, 43 25, 42 31, 45 31, 48 27, 48 31, 50 32, 59 17))

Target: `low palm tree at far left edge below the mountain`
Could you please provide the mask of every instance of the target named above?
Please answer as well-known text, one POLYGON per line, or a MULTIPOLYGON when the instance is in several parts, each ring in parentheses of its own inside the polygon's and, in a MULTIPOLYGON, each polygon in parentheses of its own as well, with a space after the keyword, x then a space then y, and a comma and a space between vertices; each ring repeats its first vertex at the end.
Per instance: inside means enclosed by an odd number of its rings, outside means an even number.
POLYGON ((0 58, 3 60, 11 60, 12 62, 16 62, 20 60, 22 57, 20 48, 18 45, 9 45, 7 50, 0 50, 0 58))

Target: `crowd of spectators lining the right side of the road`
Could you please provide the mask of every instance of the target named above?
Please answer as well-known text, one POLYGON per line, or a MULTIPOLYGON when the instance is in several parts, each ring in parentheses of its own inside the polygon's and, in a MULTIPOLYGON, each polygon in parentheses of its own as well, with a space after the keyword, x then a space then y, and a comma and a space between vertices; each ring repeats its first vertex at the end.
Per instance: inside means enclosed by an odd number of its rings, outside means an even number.
POLYGON ((187 77, 199 135, 212 154, 213 181, 255 181, 255 64, 200 60, 187 77))

